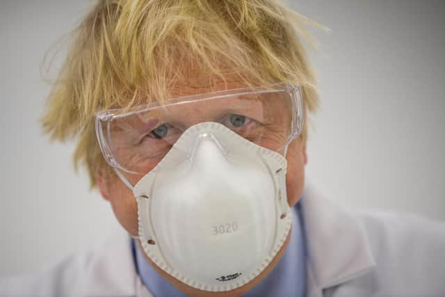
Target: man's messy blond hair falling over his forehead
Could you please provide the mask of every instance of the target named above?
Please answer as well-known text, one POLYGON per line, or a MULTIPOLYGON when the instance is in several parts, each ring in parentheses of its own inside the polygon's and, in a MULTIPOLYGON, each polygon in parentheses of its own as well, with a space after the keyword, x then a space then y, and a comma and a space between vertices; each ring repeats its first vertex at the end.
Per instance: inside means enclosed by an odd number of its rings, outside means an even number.
POLYGON ((316 80, 300 40, 309 36, 307 22, 276 0, 99 1, 72 33, 44 131, 60 141, 79 138, 74 163, 86 165, 94 187, 98 172, 111 172, 95 138, 95 113, 162 101, 191 76, 209 85, 227 73, 257 86, 298 83, 314 111, 316 80))

